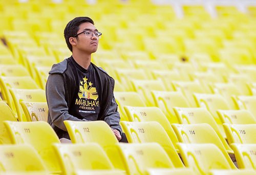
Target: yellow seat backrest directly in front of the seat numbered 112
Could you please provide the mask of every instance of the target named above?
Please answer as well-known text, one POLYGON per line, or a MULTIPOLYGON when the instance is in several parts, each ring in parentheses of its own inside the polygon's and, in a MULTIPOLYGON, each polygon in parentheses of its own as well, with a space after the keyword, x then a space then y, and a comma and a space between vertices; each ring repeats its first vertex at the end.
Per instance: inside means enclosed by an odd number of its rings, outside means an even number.
POLYGON ((62 174, 125 174, 115 170, 97 143, 54 144, 62 174))

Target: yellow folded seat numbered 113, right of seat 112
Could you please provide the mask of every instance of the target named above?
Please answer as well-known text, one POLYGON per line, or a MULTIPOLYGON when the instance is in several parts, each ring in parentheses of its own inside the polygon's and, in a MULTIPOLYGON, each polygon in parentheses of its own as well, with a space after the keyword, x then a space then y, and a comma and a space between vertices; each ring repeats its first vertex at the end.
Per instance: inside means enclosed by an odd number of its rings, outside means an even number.
POLYGON ((122 121, 121 125, 129 143, 159 143, 164 148, 175 167, 184 167, 174 147, 176 143, 172 143, 164 128, 158 122, 122 121))

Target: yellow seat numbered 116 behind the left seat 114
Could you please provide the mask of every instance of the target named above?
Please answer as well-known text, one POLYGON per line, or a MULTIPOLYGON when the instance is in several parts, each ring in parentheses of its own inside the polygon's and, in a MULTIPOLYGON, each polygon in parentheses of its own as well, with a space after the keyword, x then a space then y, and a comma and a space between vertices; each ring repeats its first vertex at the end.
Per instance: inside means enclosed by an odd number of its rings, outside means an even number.
POLYGON ((44 90, 10 89, 10 93, 14 102, 18 121, 27 121, 22 106, 20 106, 20 102, 46 102, 46 92, 44 90))

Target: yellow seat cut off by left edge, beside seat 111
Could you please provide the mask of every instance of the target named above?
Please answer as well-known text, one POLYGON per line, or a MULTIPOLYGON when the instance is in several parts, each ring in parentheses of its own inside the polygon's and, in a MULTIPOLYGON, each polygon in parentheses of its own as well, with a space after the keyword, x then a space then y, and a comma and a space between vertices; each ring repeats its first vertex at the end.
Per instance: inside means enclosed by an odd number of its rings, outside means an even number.
POLYGON ((10 107, 4 101, 0 101, 0 144, 11 143, 3 121, 17 121, 10 107))

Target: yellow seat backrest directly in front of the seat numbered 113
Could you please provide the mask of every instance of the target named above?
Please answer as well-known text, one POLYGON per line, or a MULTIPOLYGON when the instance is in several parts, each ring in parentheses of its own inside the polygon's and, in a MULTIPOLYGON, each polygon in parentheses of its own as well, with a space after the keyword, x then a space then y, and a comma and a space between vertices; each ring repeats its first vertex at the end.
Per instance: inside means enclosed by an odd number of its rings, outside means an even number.
POLYGON ((148 168, 174 168, 164 149, 157 143, 119 144, 128 174, 145 174, 148 168))

